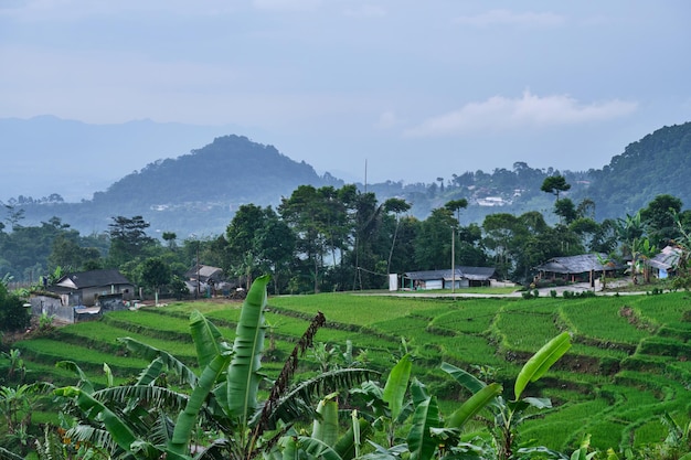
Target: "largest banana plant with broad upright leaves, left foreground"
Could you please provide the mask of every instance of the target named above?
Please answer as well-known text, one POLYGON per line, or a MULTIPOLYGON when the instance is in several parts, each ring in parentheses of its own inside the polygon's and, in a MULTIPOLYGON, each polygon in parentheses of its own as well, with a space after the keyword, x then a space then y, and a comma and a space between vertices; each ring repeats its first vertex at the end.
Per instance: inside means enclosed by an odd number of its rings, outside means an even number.
MULTIPOLYGON (((309 402, 326 388, 343 388, 370 378, 371 372, 344 368, 317 375, 291 387, 298 355, 311 346, 325 318, 319 313, 298 341, 266 400, 258 400, 264 350, 268 276, 255 279, 243 303, 233 345, 203 314, 193 312, 190 332, 202 370, 198 375, 171 354, 125 338, 126 346, 151 360, 132 385, 94 391, 79 386, 55 391, 81 409, 73 440, 100 442, 113 458, 152 460, 251 459, 277 446, 299 417, 311 415, 309 402), (164 372, 180 377, 183 391, 166 385, 164 372), (201 427, 215 440, 196 446, 201 427)), ((333 389, 331 389, 333 391, 333 389)))

